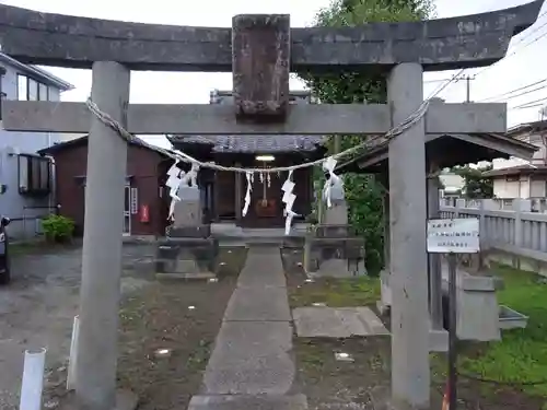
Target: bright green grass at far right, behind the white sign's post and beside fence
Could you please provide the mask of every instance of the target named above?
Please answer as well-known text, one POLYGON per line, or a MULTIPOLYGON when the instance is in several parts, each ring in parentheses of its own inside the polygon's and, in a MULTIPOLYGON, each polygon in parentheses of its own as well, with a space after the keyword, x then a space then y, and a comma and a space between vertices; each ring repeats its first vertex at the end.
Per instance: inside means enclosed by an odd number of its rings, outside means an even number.
MULTIPOLYGON (((507 266, 496 266, 493 272, 504 281, 498 303, 528 316, 528 325, 504 330, 502 341, 486 343, 472 356, 462 358, 462 370, 505 383, 547 379, 547 284, 536 273, 507 266)), ((523 390, 547 397, 547 383, 523 386, 523 390)))

